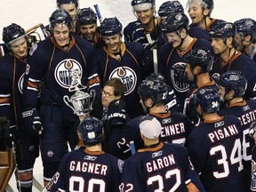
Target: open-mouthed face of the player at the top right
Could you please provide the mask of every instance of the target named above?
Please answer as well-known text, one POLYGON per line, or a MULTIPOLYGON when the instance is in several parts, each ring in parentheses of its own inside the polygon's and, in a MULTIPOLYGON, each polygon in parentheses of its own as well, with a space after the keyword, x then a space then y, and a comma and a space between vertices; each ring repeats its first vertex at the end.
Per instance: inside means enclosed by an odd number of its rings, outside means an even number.
POLYGON ((188 6, 188 14, 192 23, 199 24, 204 20, 203 10, 201 5, 197 2, 191 3, 188 6))

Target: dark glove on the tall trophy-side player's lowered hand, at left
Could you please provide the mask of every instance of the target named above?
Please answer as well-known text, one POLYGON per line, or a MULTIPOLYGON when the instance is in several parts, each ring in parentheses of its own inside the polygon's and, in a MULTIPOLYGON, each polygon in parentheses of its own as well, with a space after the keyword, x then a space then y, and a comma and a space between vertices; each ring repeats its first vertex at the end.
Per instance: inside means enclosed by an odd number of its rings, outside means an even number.
POLYGON ((33 135, 42 134, 43 126, 36 108, 27 108, 22 112, 22 117, 28 129, 28 132, 33 135))

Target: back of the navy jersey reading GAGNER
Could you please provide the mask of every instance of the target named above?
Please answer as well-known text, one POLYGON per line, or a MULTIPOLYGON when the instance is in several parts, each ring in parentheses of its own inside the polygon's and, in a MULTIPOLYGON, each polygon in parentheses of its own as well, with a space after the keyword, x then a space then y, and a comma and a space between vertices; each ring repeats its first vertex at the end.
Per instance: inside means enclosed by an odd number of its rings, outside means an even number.
POLYGON ((123 161, 103 151, 78 149, 62 158, 53 191, 118 191, 123 161))

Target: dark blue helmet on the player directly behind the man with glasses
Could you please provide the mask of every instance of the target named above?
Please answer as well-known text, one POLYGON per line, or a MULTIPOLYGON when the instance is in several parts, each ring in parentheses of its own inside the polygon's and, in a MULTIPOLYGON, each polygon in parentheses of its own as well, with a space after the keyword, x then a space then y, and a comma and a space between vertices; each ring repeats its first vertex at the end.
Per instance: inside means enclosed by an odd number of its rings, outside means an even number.
POLYGON ((113 36, 117 33, 122 34, 123 26, 117 18, 106 18, 100 26, 101 36, 113 36))

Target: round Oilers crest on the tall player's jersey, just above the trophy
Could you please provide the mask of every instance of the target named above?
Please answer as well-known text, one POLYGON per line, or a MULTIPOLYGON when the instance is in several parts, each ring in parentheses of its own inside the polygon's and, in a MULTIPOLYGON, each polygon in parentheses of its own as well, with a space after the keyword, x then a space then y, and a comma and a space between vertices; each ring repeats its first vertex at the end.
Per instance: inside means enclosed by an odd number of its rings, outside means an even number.
POLYGON ((61 87, 68 89, 72 83, 72 71, 74 70, 80 71, 78 73, 80 79, 82 78, 83 68, 81 67, 80 63, 76 60, 66 59, 61 60, 60 63, 55 68, 54 76, 56 82, 60 84, 61 87))

